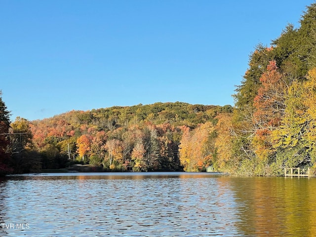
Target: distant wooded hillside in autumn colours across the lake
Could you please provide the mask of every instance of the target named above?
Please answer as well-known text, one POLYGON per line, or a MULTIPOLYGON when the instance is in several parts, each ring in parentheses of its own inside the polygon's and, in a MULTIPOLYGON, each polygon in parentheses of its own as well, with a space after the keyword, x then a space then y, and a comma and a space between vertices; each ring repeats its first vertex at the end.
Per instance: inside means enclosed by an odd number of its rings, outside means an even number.
POLYGON ((113 171, 205 170, 215 156, 217 121, 232 110, 176 102, 17 118, 14 133, 29 131, 32 139, 22 136, 25 150, 13 156, 13 166, 18 172, 73 163, 113 171))

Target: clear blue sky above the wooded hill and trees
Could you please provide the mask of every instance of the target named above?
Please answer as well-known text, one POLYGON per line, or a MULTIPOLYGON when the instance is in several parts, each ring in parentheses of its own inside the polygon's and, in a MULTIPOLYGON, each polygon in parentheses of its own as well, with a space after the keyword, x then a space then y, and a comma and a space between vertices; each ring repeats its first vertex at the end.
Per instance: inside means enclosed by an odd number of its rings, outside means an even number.
POLYGON ((234 105, 258 43, 312 0, 0 0, 0 90, 17 117, 187 102, 234 105))

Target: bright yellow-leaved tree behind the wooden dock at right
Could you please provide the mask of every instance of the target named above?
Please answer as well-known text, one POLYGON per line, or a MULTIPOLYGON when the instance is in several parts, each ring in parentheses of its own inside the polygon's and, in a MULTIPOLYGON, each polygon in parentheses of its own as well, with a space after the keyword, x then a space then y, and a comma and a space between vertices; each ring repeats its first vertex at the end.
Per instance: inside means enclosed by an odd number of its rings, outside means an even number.
POLYGON ((287 91, 284 118, 273 131, 276 149, 275 169, 306 167, 315 163, 316 155, 316 68, 304 82, 293 81, 287 91))

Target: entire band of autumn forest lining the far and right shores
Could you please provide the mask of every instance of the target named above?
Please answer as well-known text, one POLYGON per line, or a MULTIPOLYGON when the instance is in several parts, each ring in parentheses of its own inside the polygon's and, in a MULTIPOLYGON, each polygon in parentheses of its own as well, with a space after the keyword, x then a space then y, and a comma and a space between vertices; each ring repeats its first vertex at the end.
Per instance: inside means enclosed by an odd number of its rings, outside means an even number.
POLYGON ((0 174, 66 169, 280 176, 316 167, 316 3, 259 44, 235 105, 183 102, 70 111, 29 121, 0 94, 0 174))

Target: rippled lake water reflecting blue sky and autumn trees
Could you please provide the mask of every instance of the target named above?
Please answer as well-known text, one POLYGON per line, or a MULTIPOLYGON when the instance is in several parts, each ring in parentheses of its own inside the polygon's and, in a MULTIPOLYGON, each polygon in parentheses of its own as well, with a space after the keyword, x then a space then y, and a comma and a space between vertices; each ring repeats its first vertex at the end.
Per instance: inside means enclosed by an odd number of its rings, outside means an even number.
POLYGON ((1 237, 316 236, 316 178, 66 173, 0 180, 1 237))

